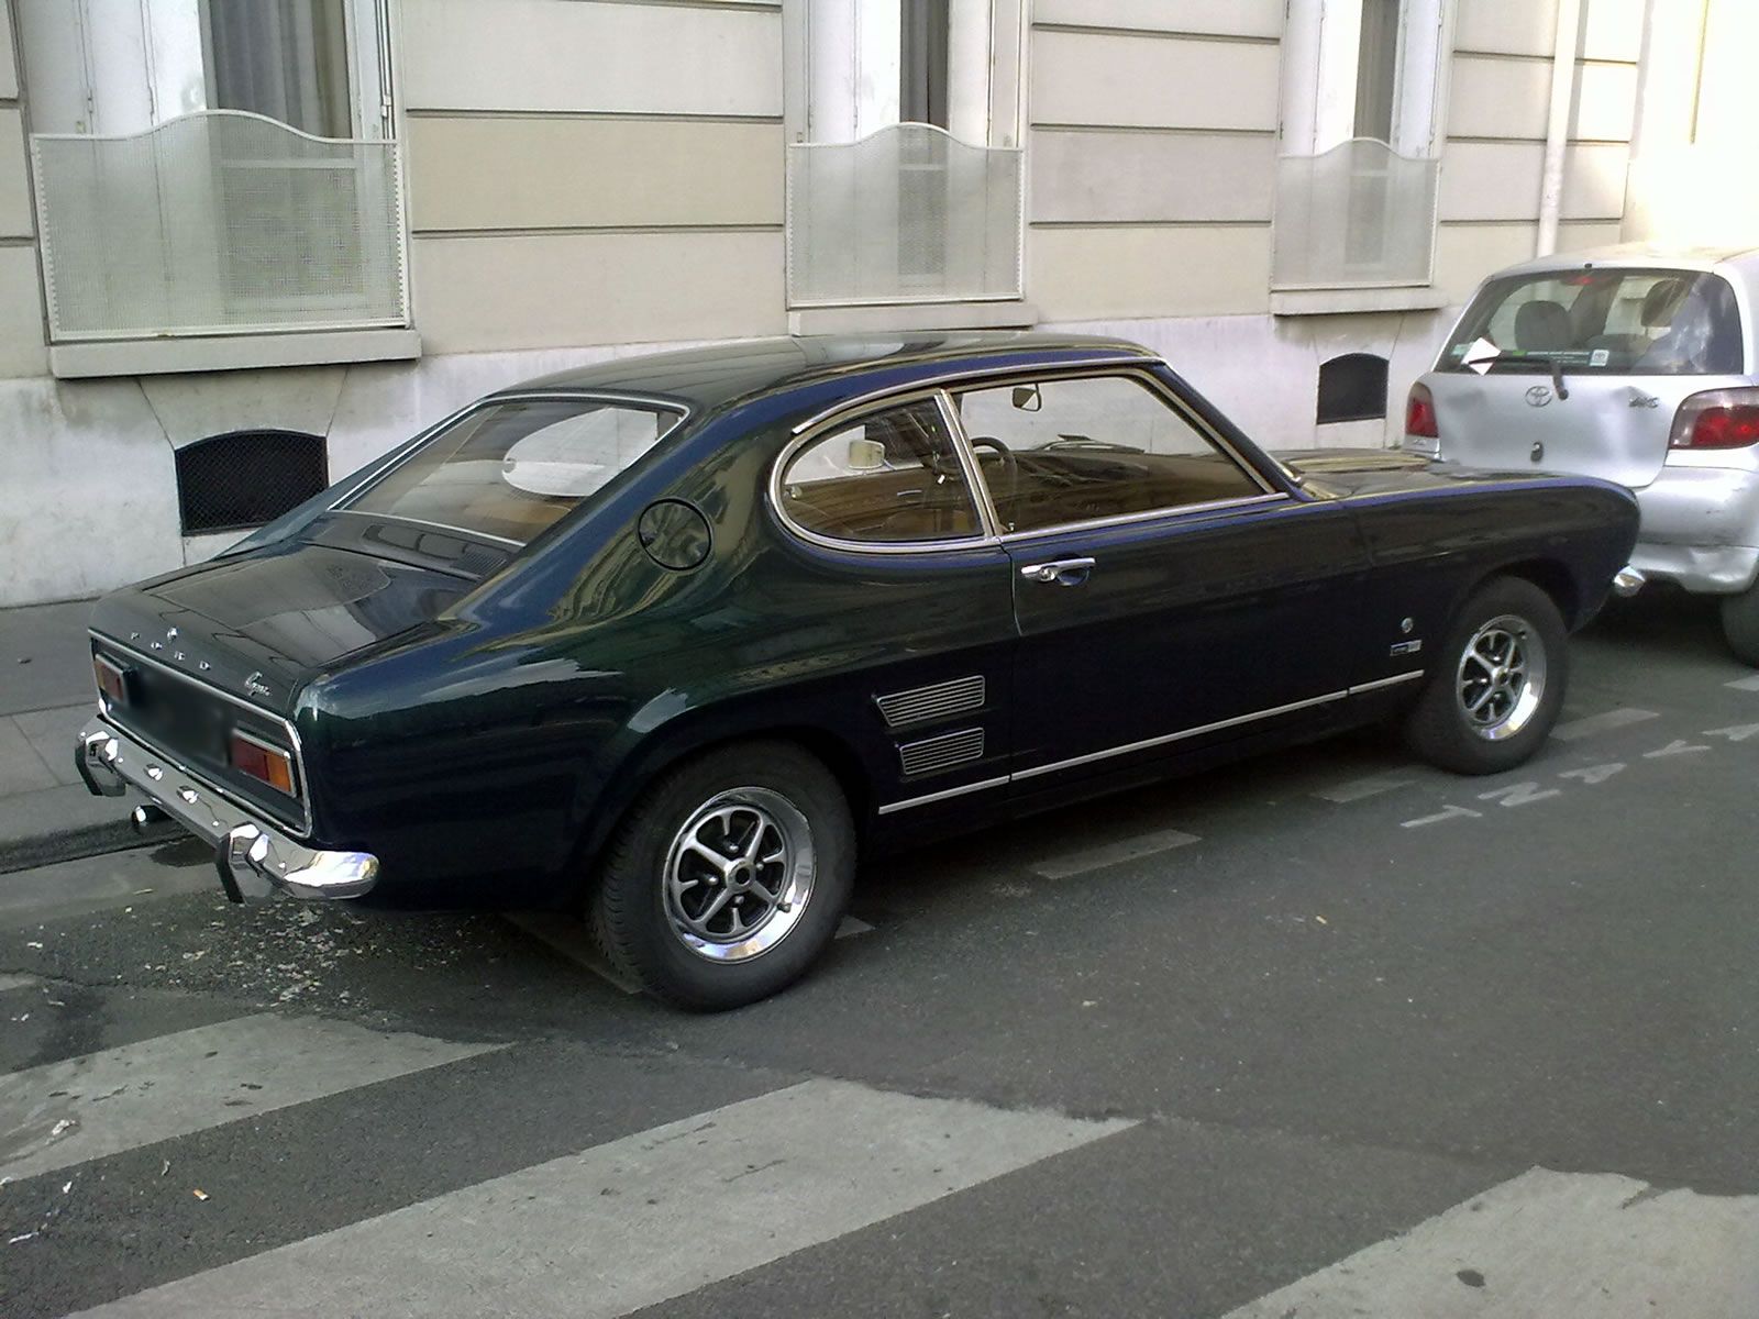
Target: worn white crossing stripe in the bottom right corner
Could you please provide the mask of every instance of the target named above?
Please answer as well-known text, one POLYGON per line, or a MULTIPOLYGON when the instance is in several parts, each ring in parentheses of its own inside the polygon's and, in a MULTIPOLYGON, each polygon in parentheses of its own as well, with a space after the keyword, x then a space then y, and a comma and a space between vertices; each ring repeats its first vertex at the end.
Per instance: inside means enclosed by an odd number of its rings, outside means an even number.
POLYGON ((1752 1319, 1759 1198, 1534 1168, 1226 1319, 1752 1319))

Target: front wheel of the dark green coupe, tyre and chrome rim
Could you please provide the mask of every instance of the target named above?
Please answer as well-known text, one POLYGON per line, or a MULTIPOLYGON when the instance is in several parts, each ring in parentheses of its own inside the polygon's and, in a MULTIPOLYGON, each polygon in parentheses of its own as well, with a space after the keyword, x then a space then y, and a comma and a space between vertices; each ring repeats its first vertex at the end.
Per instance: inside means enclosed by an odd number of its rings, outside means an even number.
POLYGON ((1455 617, 1423 695, 1405 718, 1405 746, 1455 774, 1500 774, 1522 765, 1544 746, 1564 707, 1567 644, 1551 596, 1520 577, 1492 579, 1455 617), (1509 654, 1499 637, 1514 638, 1518 681, 1495 681, 1502 672, 1499 656, 1509 654), (1490 660, 1469 661, 1467 647, 1474 645, 1490 660), (1471 702, 1483 702, 1476 714, 1467 711, 1471 702), (1499 711, 1507 714, 1499 719, 1499 711))

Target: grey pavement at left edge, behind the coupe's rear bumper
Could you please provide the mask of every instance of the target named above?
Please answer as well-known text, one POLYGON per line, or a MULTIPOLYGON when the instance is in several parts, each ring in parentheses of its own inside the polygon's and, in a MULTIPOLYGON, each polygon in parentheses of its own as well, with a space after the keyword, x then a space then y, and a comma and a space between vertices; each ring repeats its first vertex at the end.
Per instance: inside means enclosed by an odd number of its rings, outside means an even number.
POLYGON ((135 802, 93 797, 74 735, 97 709, 90 600, 0 608, 0 872, 146 842, 135 802))

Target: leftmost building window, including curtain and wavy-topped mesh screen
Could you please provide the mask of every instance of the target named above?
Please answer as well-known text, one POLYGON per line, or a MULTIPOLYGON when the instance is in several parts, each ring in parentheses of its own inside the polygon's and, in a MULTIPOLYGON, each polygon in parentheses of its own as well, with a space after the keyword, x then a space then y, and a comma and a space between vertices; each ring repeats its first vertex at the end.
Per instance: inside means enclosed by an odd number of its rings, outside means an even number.
POLYGON ((55 343, 408 324, 385 0, 19 0, 55 343))

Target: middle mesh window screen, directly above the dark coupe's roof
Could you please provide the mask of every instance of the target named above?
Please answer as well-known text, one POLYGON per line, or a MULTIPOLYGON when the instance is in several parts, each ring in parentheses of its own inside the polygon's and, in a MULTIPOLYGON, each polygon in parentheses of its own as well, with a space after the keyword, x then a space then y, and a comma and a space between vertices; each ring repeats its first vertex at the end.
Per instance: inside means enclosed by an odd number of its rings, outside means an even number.
POLYGON ((1020 151, 925 123, 788 148, 788 301, 1020 297, 1020 151))

